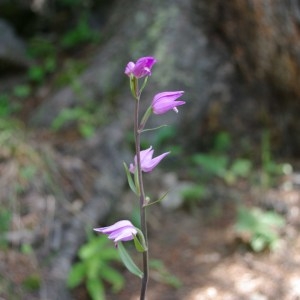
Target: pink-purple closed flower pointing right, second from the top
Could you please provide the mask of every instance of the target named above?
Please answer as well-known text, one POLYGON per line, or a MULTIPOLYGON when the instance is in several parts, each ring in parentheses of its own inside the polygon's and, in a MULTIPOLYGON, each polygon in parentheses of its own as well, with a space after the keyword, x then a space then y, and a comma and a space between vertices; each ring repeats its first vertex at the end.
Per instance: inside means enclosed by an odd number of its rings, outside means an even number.
POLYGON ((161 115, 171 109, 177 113, 177 106, 185 104, 185 101, 176 101, 176 99, 181 97, 183 93, 183 91, 176 91, 156 94, 152 100, 153 113, 161 115))

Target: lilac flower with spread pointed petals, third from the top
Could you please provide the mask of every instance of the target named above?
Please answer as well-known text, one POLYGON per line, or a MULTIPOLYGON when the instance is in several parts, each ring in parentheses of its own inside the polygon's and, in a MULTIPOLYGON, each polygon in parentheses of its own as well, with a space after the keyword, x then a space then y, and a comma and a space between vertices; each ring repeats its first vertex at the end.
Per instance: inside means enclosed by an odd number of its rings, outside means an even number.
MULTIPOLYGON (((154 150, 152 150, 152 146, 146 150, 140 152, 141 158, 141 169, 143 172, 151 172, 160 161, 167 156, 170 152, 163 153, 155 158, 152 158, 154 150)), ((134 164, 130 164, 129 171, 134 173, 137 166, 137 158, 134 157, 134 164)))

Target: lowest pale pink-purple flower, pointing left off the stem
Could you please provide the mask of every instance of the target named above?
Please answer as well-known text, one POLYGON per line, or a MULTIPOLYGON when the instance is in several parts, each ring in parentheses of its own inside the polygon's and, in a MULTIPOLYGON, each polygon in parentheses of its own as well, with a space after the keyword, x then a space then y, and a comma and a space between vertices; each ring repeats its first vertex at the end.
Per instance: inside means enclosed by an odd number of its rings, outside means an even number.
POLYGON ((133 240, 134 235, 137 234, 136 228, 128 220, 118 221, 107 227, 94 228, 94 230, 107 234, 108 238, 114 240, 115 244, 120 241, 126 242, 133 240))

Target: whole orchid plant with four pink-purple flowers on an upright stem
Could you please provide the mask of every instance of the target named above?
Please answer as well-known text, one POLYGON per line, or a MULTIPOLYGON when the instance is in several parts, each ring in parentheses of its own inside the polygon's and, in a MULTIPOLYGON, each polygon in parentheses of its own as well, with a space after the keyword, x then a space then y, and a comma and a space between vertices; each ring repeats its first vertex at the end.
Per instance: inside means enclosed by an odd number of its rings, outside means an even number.
POLYGON ((139 198, 141 228, 135 227, 129 220, 121 220, 107 227, 95 228, 94 230, 108 235, 108 238, 113 240, 116 248, 119 251, 120 257, 127 269, 133 274, 141 278, 140 300, 146 297, 147 284, 149 278, 149 258, 148 258, 148 237, 147 237, 147 221, 146 208, 149 205, 158 203, 162 200, 150 201, 146 197, 143 173, 152 172, 153 169, 166 157, 170 152, 165 152, 156 157, 153 157, 154 149, 152 146, 148 149, 141 150, 141 135, 146 130, 145 125, 151 114, 162 115, 170 110, 178 113, 178 106, 185 104, 185 101, 178 100, 183 95, 183 91, 161 92, 153 97, 153 100, 140 117, 140 101, 142 91, 147 84, 148 77, 151 75, 152 67, 156 63, 154 57, 142 57, 135 63, 129 62, 125 68, 125 74, 129 77, 130 90, 135 99, 134 110, 134 139, 135 139, 135 156, 133 163, 127 166, 124 163, 129 187, 139 198), (140 85, 140 80, 143 80, 140 85), (135 248, 143 256, 143 268, 140 268, 134 263, 130 255, 127 253, 122 242, 134 241, 135 248))

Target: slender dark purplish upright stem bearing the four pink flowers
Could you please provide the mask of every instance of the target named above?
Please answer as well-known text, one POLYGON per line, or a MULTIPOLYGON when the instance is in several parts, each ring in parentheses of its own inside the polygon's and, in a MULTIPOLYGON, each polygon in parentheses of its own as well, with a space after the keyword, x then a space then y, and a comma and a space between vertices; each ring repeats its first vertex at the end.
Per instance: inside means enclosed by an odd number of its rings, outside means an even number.
POLYGON ((134 137, 135 137, 135 152, 137 158, 137 172, 138 181, 140 186, 140 218, 141 218, 141 230, 145 237, 145 243, 147 250, 143 252, 143 271, 144 276, 142 278, 141 294, 140 300, 144 300, 146 297, 148 278, 149 278, 149 264, 148 264, 148 237, 147 237, 147 222, 146 222, 146 210, 145 210, 145 191, 143 184, 143 176, 141 169, 141 156, 140 156, 140 145, 141 145, 141 130, 139 129, 139 105, 140 105, 140 95, 138 91, 138 86, 136 86, 136 103, 135 103, 135 113, 134 113, 134 137))

